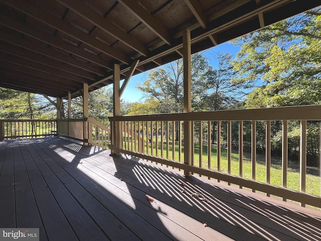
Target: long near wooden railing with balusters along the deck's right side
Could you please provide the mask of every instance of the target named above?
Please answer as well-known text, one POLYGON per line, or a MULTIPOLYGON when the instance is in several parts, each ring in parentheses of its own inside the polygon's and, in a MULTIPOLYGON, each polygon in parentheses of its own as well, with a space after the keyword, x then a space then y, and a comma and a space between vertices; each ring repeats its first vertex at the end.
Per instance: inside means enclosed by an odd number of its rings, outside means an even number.
MULTIPOLYGON (((276 195, 283 200, 297 201, 302 206, 308 204, 321 207, 319 194, 305 193, 306 186, 310 185, 306 179, 307 123, 321 120, 321 105, 116 116, 109 119, 114 130, 113 135, 119 137, 119 140, 113 138, 110 145, 114 152, 184 169, 239 185, 240 188, 247 187, 267 195, 276 195), (282 124, 282 134, 279 138, 279 145, 282 146, 281 177, 276 183, 273 183, 273 179, 271 184, 271 177, 274 177, 274 169, 271 167, 271 125, 274 125, 275 121, 282 124), (299 122, 300 133, 298 147, 295 147, 300 153, 299 175, 295 180, 288 179, 290 172, 287 129, 292 121, 299 122), (265 133, 257 133, 256 126, 262 122, 265 133), (191 140, 184 140, 184 126, 187 124, 192 126, 191 140), (237 131, 232 133, 232 127, 235 125, 238 125, 237 131), (249 136, 244 136, 244 126, 250 126, 249 136), (118 127, 118 130, 113 127, 118 127), (223 138, 222 133, 227 137, 223 138), (232 134, 238 136, 237 145, 232 143, 232 134), (264 168, 257 160, 257 140, 262 135, 265 138, 262 148, 265 150, 264 168), (223 143, 223 140, 227 141, 223 143), (238 147, 237 154, 235 151, 232 152, 232 146, 238 147), (249 161, 245 161, 246 153, 243 151, 248 146, 249 161), (187 158, 185 155, 190 157, 187 158), (237 167, 232 165, 235 164, 235 158, 238 159, 237 167), (245 166, 248 164, 250 173, 245 173, 245 166), (262 180, 262 173, 265 180, 262 180), (288 188, 290 182, 298 182, 299 190, 288 188)), ((314 179, 310 182, 320 183, 319 174, 314 179)))

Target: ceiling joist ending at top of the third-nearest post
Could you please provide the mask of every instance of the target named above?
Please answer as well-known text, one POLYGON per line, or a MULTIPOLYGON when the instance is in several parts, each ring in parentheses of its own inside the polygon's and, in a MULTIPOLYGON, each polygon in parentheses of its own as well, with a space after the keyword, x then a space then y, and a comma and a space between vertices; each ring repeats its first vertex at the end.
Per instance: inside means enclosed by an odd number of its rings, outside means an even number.
POLYGON ((88 83, 88 79, 80 77, 78 75, 71 74, 71 73, 68 73, 68 72, 63 71, 63 70, 51 68, 49 66, 46 66, 46 65, 43 65, 43 64, 39 64, 39 63, 36 63, 36 62, 33 62, 33 61, 28 61, 28 60, 25 60, 23 58, 19 58, 19 57, 16 57, 14 55, 10 55, 10 54, 7 54, 7 53, 0 54, 0 59, 2 59, 4 61, 7 61, 7 62, 14 63, 14 64, 19 64, 19 65, 22 65, 22 66, 25 66, 25 67, 28 67, 28 68, 40 70, 40 71, 43 71, 43 72, 46 72, 46 73, 49 73, 49 74, 65 77, 65 78, 68 78, 68 79, 71 79, 71 80, 75 80, 77 82, 88 83))

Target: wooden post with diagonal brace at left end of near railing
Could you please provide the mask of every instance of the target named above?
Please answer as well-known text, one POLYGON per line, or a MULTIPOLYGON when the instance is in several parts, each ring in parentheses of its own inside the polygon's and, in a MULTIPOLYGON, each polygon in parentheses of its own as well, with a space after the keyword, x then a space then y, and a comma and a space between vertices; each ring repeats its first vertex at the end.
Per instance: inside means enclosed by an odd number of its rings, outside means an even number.
MULTIPOLYGON (((119 90, 120 90, 120 65, 114 64, 113 69, 113 78, 114 78, 114 84, 113 84, 113 116, 120 116, 120 96, 119 96, 119 90)), ((121 129, 119 122, 116 121, 114 118, 113 120, 113 150, 112 154, 119 154, 117 152, 117 149, 121 147, 121 129)))

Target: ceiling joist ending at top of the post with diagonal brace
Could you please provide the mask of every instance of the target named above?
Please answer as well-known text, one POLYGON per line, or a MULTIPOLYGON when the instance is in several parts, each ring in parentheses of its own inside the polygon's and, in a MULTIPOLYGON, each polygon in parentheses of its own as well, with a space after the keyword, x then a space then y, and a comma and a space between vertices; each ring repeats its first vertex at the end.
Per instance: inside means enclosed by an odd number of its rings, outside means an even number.
POLYGON ((108 68, 110 70, 112 69, 111 64, 108 61, 102 59, 101 57, 94 55, 92 53, 89 53, 88 51, 82 50, 81 48, 78 48, 70 43, 67 43, 66 41, 59 39, 55 36, 51 36, 46 34, 43 31, 34 29, 31 26, 28 26, 20 21, 9 19, 3 15, 0 15, 0 23, 5 25, 8 28, 14 29, 20 33, 26 34, 32 38, 38 39, 47 44, 53 45, 59 49, 62 49, 80 58, 91 61, 104 68, 108 68))

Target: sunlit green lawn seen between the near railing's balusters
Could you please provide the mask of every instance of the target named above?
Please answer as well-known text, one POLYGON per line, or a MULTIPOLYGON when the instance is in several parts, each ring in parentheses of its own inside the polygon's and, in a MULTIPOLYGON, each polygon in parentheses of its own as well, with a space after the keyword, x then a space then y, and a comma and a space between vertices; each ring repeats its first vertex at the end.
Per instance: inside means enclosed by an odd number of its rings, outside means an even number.
MULTIPOLYGON (((126 143, 127 145, 127 143, 126 143)), ((138 145, 137 145, 138 146, 138 145)), ((199 166, 199 144, 195 144, 194 149, 194 165, 199 166)), ((127 149, 130 150, 130 140, 129 140, 129 148, 127 145, 127 149)), ((202 152, 202 167, 208 168, 208 146, 207 144, 203 144, 203 152, 202 152)), ((146 149, 146 142, 144 153, 151 155, 151 145, 148 143, 148 151, 146 149)), ((167 158, 167 147, 166 141, 164 140, 164 158, 167 158)), ((217 170, 217 147, 215 145, 211 146, 211 169, 217 170)), ((156 156, 156 145, 155 138, 153 142, 153 156, 156 156)), ((161 156, 161 141, 158 140, 158 156, 161 156)), ((173 145, 172 141, 169 143, 169 159, 173 159, 173 145)), ((181 155, 179 152, 179 142, 175 142, 175 161, 184 160, 184 147, 182 144, 181 155), (181 156, 181 159, 179 157, 181 156)), ((221 148, 221 172, 227 173, 227 149, 221 148)), ((256 180, 259 182, 264 182, 266 180, 266 166, 265 166, 265 155, 256 155, 256 180)), ((282 166, 280 158, 271 158, 271 169, 270 169, 270 183, 275 186, 282 186, 282 166)), ((319 172, 317 172, 319 173, 319 172)), ((238 151, 232 151, 231 154, 231 174, 235 176, 239 176, 239 154, 238 151)), ((251 154, 243 153, 243 177, 251 179, 252 178, 252 163, 251 163, 251 154)), ((288 172, 287 172, 287 188, 299 191, 300 190, 300 173, 297 167, 294 167, 292 163, 289 161, 288 172)), ((320 195, 320 176, 306 174, 306 193, 313 195, 320 195)))

